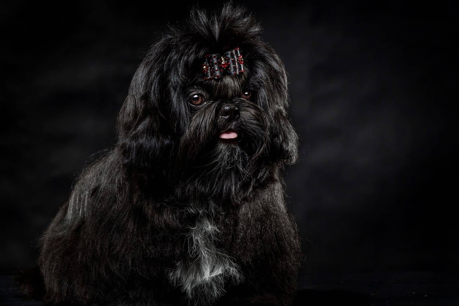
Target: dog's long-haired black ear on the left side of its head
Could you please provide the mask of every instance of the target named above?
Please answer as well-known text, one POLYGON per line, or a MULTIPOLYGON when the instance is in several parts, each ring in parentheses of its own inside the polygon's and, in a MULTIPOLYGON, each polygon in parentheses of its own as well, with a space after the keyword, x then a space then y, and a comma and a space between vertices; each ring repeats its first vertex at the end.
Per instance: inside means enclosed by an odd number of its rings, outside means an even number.
POLYGON ((135 72, 117 122, 117 148, 126 166, 165 174, 170 169, 189 118, 182 101, 183 65, 174 57, 173 42, 163 38, 135 72))

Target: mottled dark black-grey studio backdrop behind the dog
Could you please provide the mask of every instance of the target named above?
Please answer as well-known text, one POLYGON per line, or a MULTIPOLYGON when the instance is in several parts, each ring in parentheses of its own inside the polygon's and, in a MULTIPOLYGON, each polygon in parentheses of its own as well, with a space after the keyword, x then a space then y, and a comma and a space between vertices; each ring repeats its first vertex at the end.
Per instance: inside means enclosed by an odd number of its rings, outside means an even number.
MULTIPOLYGON (((453 8, 256 2, 302 139, 285 170, 302 273, 457 270, 453 8)), ((33 264, 75 174, 114 143, 143 53, 191 4, 78 3, 1 10, 2 273, 33 264)))

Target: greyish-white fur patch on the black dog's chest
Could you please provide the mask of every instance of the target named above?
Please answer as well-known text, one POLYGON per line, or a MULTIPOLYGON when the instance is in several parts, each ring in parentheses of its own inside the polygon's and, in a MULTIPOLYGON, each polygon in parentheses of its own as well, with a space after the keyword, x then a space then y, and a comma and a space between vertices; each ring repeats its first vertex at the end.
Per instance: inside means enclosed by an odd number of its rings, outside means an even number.
POLYGON ((198 219, 187 239, 192 259, 178 262, 168 275, 190 300, 214 301, 224 294, 225 281, 235 284, 242 279, 238 265, 215 245, 217 233, 218 229, 207 218, 198 219))

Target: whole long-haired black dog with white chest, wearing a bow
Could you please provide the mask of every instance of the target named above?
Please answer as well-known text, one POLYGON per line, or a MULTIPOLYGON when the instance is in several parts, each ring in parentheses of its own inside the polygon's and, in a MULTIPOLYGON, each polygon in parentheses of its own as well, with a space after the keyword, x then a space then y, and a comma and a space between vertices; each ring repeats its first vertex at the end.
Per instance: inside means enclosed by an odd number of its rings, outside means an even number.
POLYGON ((287 79, 241 7, 193 10, 135 72, 118 142, 42 238, 45 301, 289 305, 301 247, 280 169, 287 79))

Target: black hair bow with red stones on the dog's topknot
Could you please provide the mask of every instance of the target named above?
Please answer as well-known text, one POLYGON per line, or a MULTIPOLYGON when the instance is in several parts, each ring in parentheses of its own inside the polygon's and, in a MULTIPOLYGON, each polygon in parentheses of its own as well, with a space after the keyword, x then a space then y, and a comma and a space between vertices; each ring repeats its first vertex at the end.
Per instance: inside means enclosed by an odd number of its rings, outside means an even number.
POLYGON ((236 75, 244 72, 244 58, 239 47, 226 51, 223 55, 208 54, 204 56, 202 73, 204 80, 218 79, 225 74, 236 75))

